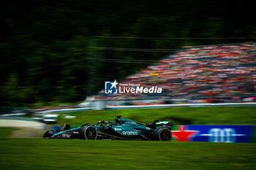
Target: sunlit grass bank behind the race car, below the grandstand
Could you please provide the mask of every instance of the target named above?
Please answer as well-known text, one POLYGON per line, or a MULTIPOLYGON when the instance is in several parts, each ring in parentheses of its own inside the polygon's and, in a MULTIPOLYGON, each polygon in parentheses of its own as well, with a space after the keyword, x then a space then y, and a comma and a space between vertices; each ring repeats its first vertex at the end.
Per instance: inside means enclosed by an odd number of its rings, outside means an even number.
POLYGON ((151 123, 154 120, 170 120, 173 124, 193 125, 256 125, 256 107, 174 107, 165 109, 122 109, 88 112, 71 112, 76 119, 59 118, 56 125, 69 123, 97 123, 99 120, 113 121, 116 115, 151 123))

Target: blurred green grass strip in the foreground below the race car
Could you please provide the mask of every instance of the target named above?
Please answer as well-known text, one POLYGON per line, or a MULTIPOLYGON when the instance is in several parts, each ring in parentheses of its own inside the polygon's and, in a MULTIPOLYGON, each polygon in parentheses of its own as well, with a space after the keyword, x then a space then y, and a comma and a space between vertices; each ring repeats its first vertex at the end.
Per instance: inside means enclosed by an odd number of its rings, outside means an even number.
POLYGON ((255 169, 256 144, 0 139, 1 169, 255 169))

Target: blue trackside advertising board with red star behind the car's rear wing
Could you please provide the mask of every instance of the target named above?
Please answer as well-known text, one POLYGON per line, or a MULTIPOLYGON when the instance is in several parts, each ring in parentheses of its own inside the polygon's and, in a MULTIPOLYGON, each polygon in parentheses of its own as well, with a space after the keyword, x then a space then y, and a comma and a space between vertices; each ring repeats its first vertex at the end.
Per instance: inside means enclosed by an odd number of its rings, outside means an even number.
POLYGON ((256 125, 173 125, 172 135, 174 141, 256 142, 256 125))

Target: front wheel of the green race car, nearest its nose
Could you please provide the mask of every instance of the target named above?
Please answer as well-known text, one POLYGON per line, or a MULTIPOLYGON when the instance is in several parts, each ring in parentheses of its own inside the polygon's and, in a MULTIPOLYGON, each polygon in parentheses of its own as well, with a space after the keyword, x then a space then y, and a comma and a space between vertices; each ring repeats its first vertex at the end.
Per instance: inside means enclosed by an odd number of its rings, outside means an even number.
POLYGON ((81 138, 86 140, 95 140, 98 136, 97 129, 93 125, 83 125, 80 128, 80 134, 81 138))

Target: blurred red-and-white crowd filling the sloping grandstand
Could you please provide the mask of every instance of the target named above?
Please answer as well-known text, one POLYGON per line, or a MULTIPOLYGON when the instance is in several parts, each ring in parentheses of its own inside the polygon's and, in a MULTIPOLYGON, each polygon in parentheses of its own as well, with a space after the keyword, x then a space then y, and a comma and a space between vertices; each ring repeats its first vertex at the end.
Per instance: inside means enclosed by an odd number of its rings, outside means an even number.
POLYGON ((184 47, 174 55, 160 60, 119 82, 152 85, 162 94, 122 93, 102 96, 108 100, 167 97, 186 103, 243 101, 255 99, 256 43, 184 47))

